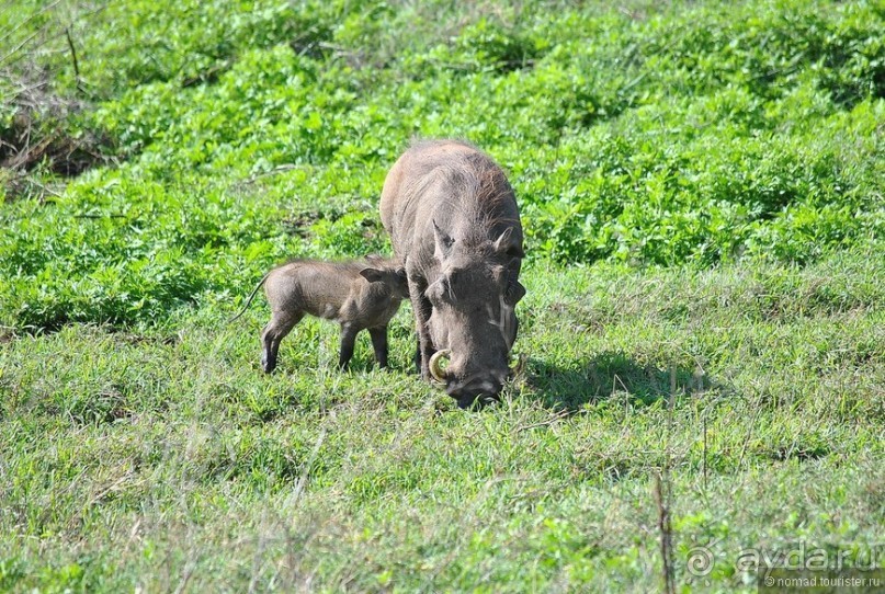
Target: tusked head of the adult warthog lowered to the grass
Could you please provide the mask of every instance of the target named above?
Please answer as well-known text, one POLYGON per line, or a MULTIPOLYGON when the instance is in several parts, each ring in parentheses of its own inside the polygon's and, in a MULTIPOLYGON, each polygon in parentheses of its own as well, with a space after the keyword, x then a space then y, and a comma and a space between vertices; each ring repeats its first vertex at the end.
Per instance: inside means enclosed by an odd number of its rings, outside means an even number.
POLYGON ((439 275, 426 295, 433 306, 428 329, 438 351, 430 373, 466 407, 495 398, 511 375, 514 307, 525 295, 518 281, 524 254, 510 231, 496 241, 464 245, 435 225, 434 235, 439 275))

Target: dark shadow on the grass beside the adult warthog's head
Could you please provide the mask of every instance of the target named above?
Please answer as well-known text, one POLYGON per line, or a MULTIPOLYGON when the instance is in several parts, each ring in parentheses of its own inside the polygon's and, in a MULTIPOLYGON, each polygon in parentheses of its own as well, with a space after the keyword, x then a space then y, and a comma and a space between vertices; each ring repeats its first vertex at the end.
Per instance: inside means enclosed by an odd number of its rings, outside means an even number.
POLYGON ((606 399, 648 405, 667 399, 673 385, 677 398, 712 387, 695 369, 643 365, 625 353, 611 351, 568 367, 530 357, 527 368, 527 382, 538 400, 545 407, 566 410, 578 410, 583 404, 606 399))

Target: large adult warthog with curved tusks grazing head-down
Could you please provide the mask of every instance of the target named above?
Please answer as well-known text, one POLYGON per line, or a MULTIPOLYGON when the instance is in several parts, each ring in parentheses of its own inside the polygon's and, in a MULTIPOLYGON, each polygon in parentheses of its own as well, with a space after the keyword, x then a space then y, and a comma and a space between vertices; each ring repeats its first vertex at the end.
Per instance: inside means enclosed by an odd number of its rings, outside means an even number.
POLYGON ((405 263, 421 376, 444 382, 462 407, 497 396, 525 295, 522 226, 503 171, 465 142, 418 142, 387 174, 381 218, 405 263))

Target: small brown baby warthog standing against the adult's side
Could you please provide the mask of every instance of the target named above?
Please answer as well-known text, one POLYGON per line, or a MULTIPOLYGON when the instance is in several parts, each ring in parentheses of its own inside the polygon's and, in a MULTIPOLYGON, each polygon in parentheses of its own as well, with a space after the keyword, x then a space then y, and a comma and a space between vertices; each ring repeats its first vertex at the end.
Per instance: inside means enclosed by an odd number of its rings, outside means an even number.
POLYGON ((387 367, 387 323, 409 295, 406 271, 400 264, 377 256, 363 262, 290 262, 265 274, 242 311, 230 321, 243 315, 261 285, 272 312, 271 321, 261 332, 264 372, 271 373, 276 367, 280 341, 305 313, 341 324, 340 368, 350 363, 356 333, 363 329, 372 336, 378 365, 387 367))

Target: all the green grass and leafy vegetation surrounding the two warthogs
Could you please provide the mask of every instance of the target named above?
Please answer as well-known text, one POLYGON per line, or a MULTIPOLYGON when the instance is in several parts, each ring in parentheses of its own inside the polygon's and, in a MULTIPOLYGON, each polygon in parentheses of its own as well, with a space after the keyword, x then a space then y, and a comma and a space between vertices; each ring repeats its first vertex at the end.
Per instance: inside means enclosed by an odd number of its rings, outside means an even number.
POLYGON ((881 552, 885 3, 610 4, 1 8, 0 590, 730 591, 742 549, 881 552), (392 374, 306 321, 263 377, 265 311, 225 319, 287 258, 389 251, 419 136, 509 172, 524 376, 454 410, 404 307, 392 374))

